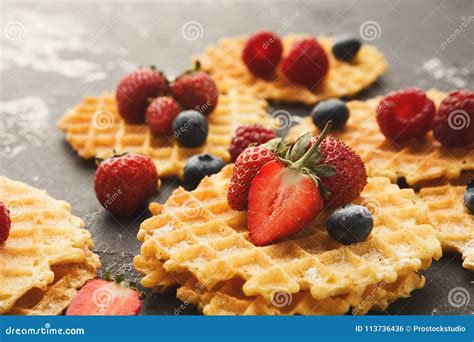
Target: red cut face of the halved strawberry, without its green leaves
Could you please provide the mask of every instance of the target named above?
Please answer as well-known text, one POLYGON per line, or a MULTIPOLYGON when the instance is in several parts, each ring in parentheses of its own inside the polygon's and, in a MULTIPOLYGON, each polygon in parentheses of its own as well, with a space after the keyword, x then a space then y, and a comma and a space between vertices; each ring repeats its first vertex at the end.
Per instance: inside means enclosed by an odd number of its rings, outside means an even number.
POLYGON ((301 231, 323 209, 313 179, 279 161, 265 164, 250 186, 248 226, 251 241, 267 245, 301 231))

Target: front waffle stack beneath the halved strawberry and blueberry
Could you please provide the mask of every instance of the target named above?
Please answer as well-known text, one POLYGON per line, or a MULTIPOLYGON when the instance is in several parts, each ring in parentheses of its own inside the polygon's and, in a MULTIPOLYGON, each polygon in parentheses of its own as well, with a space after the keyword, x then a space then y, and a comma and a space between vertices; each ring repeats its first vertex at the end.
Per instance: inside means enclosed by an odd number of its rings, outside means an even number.
POLYGON ((227 205, 232 168, 152 205, 135 258, 143 286, 177 284, 178 297, 205 314, 363 314, 422 287, 418 272, 441 256, 428 206, 383 177, 370 178, 355 202, 374 215, 366 241, 335 242, 324 213, 300 236, 256 247, 247 214, 227 205))

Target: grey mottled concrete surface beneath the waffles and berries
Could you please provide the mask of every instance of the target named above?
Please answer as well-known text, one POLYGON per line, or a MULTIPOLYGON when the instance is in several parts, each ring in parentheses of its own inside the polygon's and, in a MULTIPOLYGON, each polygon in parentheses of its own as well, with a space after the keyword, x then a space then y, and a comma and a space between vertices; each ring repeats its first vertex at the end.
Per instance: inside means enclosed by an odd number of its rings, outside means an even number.
MULTIPOLYGON (((46 188, 71 202, 87 223, 104 270, 139 280, 132 258, 146 210, 128 222, 100 211, 95 166, 80 160, 56 128, 65 110, 85 95, 113 90, 124 72, 155 64, 170 75, 219 37, 260 28, 314 35, 352 33, 378 46, 388 73, 358 98, 405 86, 473 89, 474 6, 467 1, 288 2, 1 2, 0 173, 46 188)), ((285 108, 297 115, 309 109, 285 108)), ((166 181, 163 202, 177 181, 166 181)), ((446 254, 424 273, 425 288, 381 314, 472 314, 474 298, 449 304, 449 291, 468 289, 473 276, 446 254)), ((472 297, 472 296, 471 296, 472 297)), ((143 314, 173 314, 175 294, 145 291, 143 314)), ((188 307, 184 313, 196 313, 188 307)), ((380 314, 380 313, 379 313, 380 314)))

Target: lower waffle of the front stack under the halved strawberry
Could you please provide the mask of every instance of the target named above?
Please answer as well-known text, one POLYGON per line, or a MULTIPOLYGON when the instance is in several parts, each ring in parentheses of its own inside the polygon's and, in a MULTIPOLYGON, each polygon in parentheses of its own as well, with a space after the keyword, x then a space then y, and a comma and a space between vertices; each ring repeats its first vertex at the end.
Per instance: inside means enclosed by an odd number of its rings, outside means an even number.
POLYGON ((329 297, 316 301, 308 291, 294 295, 278 294, 274 303, 262 297, 247 297, 238 280, 224 282, 213 291, 204 290, 190 279, 177 291, 184 303, 197 306, 206 315, 342 315, 352 306, 353 314, 363 315, 370 309, 385 310, 398 298, 409 297, 413 290, 424 286, 425 279, 415 272, 401 276, 392 284, 379 283, 367 288, 355 298, 329 297))

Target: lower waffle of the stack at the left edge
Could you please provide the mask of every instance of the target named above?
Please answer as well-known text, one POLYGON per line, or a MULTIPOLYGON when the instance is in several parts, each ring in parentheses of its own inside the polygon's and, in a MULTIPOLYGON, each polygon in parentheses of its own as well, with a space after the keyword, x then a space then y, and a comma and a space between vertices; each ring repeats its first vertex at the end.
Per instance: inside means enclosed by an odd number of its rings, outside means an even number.
POLYGON ((77 291, 95 278, 99 267, 99 257, 89 250, 86 250, 86 259, 82 263, 52 266, 54 281, 46 291, 31 289, 8 314, 60 315, 71 304, 77 291))

